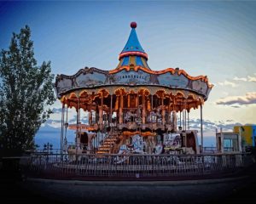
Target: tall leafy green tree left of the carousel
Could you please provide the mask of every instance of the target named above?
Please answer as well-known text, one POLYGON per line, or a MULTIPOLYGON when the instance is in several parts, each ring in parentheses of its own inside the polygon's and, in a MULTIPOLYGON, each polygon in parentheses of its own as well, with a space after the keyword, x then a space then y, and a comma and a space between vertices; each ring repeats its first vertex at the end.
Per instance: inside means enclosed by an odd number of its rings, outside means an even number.
POLYGON ((13 33, 9 50, 0 54, 0 149, 34 148, 34 136, 55 101, 50 62, 37 65, 29 26, 13 33), (1 82, 2 81, 2 82, 1 82))

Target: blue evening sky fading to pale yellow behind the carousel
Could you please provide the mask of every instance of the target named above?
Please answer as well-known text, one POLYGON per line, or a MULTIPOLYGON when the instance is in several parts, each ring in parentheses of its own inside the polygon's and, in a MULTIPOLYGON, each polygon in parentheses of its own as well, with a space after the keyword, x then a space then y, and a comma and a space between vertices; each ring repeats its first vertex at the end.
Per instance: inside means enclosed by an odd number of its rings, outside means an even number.
MULTIPOLYGON (((0 2, 0 48, 28 25, 38 64, 50 60, 55 75, 113 70, 136 21, 152 70, 179 67, 214 84, 203 106, 205 131, 213 133, 256 123, 255 10, 251 1, 0 2)), ((198 127, 200 111, 190 118, 198 127)), ((49 124, 60 119, 55 111, 49 124)))

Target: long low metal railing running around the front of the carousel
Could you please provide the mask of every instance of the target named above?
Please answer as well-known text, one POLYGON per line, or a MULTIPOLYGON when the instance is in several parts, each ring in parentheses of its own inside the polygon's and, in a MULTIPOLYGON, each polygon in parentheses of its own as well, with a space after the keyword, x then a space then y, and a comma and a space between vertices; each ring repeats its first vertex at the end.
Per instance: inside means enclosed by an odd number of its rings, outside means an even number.
POLYGON ((177 177, 234 173, 253 164, 248 154, 61 155, 33 154, 20 160, 30 177, 177 177))

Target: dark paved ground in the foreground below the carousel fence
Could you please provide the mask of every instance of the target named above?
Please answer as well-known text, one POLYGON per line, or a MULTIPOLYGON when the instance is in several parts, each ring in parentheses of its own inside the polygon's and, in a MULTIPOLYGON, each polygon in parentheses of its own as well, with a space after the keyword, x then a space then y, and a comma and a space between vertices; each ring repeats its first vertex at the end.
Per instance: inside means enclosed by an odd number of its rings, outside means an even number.
POLYGON ((76 182, 30 180, 1 184, 4 203, 253 203, 255 180, 76 182))

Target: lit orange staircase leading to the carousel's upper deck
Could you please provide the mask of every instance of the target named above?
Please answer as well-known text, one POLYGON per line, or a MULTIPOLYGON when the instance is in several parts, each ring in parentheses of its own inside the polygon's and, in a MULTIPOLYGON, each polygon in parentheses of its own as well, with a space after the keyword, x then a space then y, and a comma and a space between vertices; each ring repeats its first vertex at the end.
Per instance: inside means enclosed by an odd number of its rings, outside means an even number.
POLYGON ((118 138, 119 134, 115 131, 113 133, 109 133, 108 137, 103 141, 103 144, 96 150, 97 155, 110 154, 113 144, 118 138))

